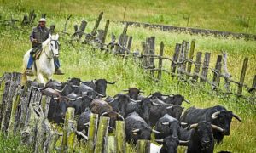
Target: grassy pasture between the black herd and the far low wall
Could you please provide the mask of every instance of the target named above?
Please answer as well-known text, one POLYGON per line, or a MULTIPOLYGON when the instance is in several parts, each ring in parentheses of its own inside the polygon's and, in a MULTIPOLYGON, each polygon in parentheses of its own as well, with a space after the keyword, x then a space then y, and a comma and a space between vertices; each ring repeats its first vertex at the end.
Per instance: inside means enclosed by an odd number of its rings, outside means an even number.
MULTIPOLYGON (((19 5, 20 9, 27 4, 24 4, 26 1, 22 2, 23 4, 19 5)), ((113 2, 111 1, 109 3, 111 4, 113 2)), ((239 1, 236 3, 239 3, 239 1)), ((65 5, 67 2, 63 1, 62 4, 65 5)), ((22 18, 23 11, 25 10, 16 10, 15 12, 15 10, 11 8, 9 2, 5 2, 4 5, 9 6, 10 8, 0 7, 0 13, 3 15, 3 18, 7 18, 10 14, 13 14, 14 17, 19 17, 19 19, 22 18)), ((31 5, 29 6, 32 8, 31 5)), ((34 7, 39 8, 38 6, 39 5, 34 7)), ((51 9, 52 11, 49 13, 50 15, 47 19, 48 24, 55 23, 56 30, 62 31, 65 17, 69 12, 63 12, 62 14, 56 15, 55 13, 58 7, 50 4, 49 6, 55 7, 55 9, 51 9)), ((90 6, 89 3, 88 6, 90 6)), ((99 6, 102 6, 102 4, 99 4, 99 6)), ((79 8, 80 6, 77 7, 79 8)), ((90 9, 90 7, 88 7, 88 9, 90 9)), ((28 11, 30 8, 28 7, 26 10, 28 11)), ((40 8, 40 10, 37 10, 37 14, 41 14, 44 10, 46 10, 46 8, 40 8)), ((93 19, 101 10, 88 12, 87 14, 90 13, 89 16, 86 15, 84 12, 85 10, 87 9, 84 8, 80 11, 79 9, 73 10, 73 14, 77 14, 78 17, 73 17, 72 20, 70 20, 67 31, 73 32, 73 25, 75 23, 79 24, 80 20, 83 19, 90 21, 86 31, 88 32, 91 30, 94 25, 93 19), (82 16, 81 14, 84 15, 82 16)), ((140 13, 140 11, 138 11, 138 13, 140 13)), ((108 17, 110 18, 111 15, 107 12, 105 19, 108 19, 108 17)), ((119 20, 119 17, 117 16, 116 19, 119 20)), ((101 28, 103 26, 104 24, 101 25, 101 28)), ((107 42, 109 42, 110 33, 113 31, 115 34, 120 34, 122 27, 123 26, 118 24, 111 24, 107 42)), ((10 27, 0 26, 0 74, 3 74, 5 71, 21 71, 22 57, 26 53, 26 50, 31 47, 28 40, 30 31, 30 27, 15 31, 10 27)), ((145 40, 146 37, 155 36, 157 50, 159 50, 160 41, 164 41, 166 44, 165 54, 168 56, 173 54, 176 42, 182 42, 182 40, 190 41, 195 38, 196 51, 208 51, 212 53, 211 65, 214 65, 217 54, 220 54, 222 50, 225 50, 229 54, 229 71, 234 79, 237 80, 239 78, 241 63, 244 57, 249 57, 246 83, 251 84, 253 75, 256 74, 256 42, 253 41, 237 40, 231 37, 222 39, 219 37, 202 37, 200 35, 191 36, 186 33, 177 34, 159 30, 151 31, 138 27, 130 27, 128 29, 128 34, 134 37, 134 43, 132 45, 133 50, 137 48, 141 49, 140 42, 145 40)), ((216 151, 229 150, 231 152, 256 152, 256 106, 247 103, 245 100, 216 95, 209 92, 211 91, 210 87, 191 87, 189 84, 177 82, 176 79, 170 79, 166 74, 163 76, 161 82, 153 82, 148 78, 148 74, 140 69, 137 63, 134 63, 132 59, 125 61, 113 54, 102 54, 100 51, 94 51, 91 48, 79 44, 73 48, 73 46, 65 42, 64 36, 61 36, 61 62, 62 69, 66 72, 66 75, 61 77, 55 76, 55 79, 65 81, 68 77, 80 77, 83 80, 107 78, 109 81, 117 81, 115 85, 111 87, 109 86, 107 90, 109 95, 117 94, 124 88, 138 87, 142 88, 146 94, 153 93, 154 91, 162 91, 165 94, 183 94, 192 103, 191 105, 185 104, 185 108, 189 108, 193 105, 197 107, 224 105, 229 110, 232 110, 236 112, 237 115, 241 116, 243 122, 233 120, 230 136, 224 138, 224 143, 218 145, 216 151)), ((169 64, 165 63, 165 66, 167 65, 169 64)), ((3 135, 0 138, 4 139, 3 135)), ((13 138, 10 139, 12 140, 13 138)), ((16 142, 15 139, 13 141, 16 142)), ((8 142, 8 140, 3 142, 8 142)), ((15 149, 16 145, 17 144, 14 143, 7 147, 9 149, 15 149)), ((5 147, 4 143, 0 143, 0 146, 2 148, 5 147)), ((7 150, 6 152, 12 151, 7 150)))

